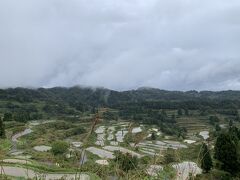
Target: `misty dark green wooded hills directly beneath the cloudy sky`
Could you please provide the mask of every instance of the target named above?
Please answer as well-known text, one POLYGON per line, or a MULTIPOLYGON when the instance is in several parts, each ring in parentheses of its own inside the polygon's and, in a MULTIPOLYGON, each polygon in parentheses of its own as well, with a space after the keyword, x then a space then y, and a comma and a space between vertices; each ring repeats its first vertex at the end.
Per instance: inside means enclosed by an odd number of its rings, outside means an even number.
POLYGON ((55 87, 55 88, 9 88, 0 90, 0 100, 18 102, 65 102, 84 103, 91 106, 115 106, 125 103, 140 102, 186 102, 186 101, 208 101, 231 102, 238 104, 240 101, 240 91, 166 91, 154 88, 139 88, 130 91, 113 91, 104 88, 81 88, 81 87, 55 87))

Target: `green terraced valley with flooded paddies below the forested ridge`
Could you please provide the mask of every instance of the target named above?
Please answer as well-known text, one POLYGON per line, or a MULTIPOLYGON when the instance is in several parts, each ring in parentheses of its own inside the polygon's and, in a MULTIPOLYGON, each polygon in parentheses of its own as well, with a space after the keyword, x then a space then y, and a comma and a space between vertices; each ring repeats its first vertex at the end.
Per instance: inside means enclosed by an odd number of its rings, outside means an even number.
MULTIPOLYGON (((36 102, 41 117, 21 120, 16 112, 4 114, 6 138, 0 140, 3 177, 201 179, 205 176, 203 144, 213 154, 219 132, 230 128, 229 120, 234 117, 217 110, 139 104, 54 114, 36 102)), ((26 104, 20 103, 20 107, 26 104)), ((72 107, 65 106, 63 112, 67 108, 72 107)), ((239 127, 239 122, 234 120, 234 125, 239 127)))

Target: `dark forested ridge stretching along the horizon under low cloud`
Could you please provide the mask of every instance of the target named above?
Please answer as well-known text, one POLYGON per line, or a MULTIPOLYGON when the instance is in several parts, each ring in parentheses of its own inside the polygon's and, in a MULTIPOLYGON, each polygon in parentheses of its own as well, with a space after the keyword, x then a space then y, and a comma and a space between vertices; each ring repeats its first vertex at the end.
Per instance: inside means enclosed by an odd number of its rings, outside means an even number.
POLYGON ((151 108, 175 109, 186 107, 199 108, 238 108, 240 107, 240 91, 165 91, 154 88, 139 88, 131 91, 113 91, 104 88, 9 88, 0 90, 0 100, 32 103, 63 103, 79 109, 88 107, 122 107, 141 105, 151 108))

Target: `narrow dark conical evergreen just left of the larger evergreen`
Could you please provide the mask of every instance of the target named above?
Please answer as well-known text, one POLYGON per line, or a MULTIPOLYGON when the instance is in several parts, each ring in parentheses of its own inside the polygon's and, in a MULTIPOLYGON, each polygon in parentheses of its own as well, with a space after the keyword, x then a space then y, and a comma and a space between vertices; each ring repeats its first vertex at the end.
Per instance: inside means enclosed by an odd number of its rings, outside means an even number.
POLYGON ((201 152, 201 168, 208 173, 213 167, 212 158, 209 152, 209 149, 205 143, 202 146, 201 152))

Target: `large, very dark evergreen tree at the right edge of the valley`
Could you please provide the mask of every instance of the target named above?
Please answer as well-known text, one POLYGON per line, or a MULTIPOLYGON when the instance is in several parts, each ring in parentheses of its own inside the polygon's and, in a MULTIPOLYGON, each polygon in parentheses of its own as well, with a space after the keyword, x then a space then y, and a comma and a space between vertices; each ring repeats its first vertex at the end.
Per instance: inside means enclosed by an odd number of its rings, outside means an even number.
POLYGON ((229 134, 220 134, 215 144, 215 158, 222 164, 222 169, 235 174, 240 169, 237 145, 229 134))

